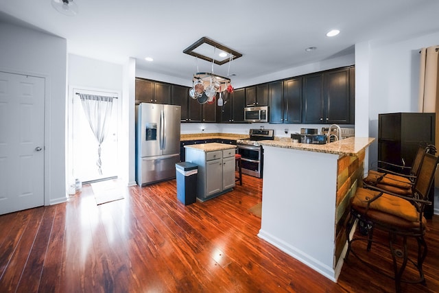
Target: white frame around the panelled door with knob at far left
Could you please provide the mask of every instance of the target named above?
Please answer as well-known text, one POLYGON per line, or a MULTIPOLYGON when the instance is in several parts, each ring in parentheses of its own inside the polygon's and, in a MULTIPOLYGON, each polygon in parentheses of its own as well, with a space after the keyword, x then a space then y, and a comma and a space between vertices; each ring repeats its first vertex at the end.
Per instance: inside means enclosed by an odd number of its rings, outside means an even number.
POLYGON ((50 189, 49 189, 49 182, 50 182, 50 169, 49 169, 49 158, 50 158, 50 152, 51 152, 51 145, 50 145, 50 128, 51 128, 51 119, 50 115, 50 78, 49 75, 41 74, 41 73, 34 73, 34 72, 28 72, 28 71, 18 71, 13 69, 5 69, 3 67, 0 67, 0 71, 5 73, 11 73, 11 74, 19 74, 19 75, 28 75, 28 76, 34 76, 36 78, 43 78, 44 79, 44 205, 50 205, 50 189))

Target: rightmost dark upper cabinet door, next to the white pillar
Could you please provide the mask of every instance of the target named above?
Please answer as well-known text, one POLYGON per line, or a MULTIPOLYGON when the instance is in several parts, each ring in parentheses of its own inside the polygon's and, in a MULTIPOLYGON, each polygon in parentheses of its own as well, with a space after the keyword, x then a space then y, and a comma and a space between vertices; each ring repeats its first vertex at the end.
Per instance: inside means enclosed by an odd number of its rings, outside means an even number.
POLYGON ((324 123, 349 122, 349 69, 324 73, 324 123))

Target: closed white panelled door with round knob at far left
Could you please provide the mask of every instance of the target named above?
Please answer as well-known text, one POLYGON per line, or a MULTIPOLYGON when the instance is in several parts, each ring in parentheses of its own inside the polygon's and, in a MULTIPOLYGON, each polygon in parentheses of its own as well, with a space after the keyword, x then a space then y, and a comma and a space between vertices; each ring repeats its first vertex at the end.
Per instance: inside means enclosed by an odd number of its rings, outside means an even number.
POLYGON ((44 205, 45 80, 0 71, 0 214, 44 205))

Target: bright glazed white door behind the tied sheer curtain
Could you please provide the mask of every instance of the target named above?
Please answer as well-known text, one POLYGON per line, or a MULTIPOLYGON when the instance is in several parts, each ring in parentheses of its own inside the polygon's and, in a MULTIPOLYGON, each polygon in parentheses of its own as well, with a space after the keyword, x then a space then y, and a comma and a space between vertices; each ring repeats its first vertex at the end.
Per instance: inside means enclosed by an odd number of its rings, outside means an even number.
MULTIPOLYGON (((85 91, 81 91, 85 92, 85 91)), ((93 95, 114 97, 115 93, 94 92, 93 95)), ((81 182, 117 177, 119 165, 117 152, 117 100, 112 101, 112 113, 108 133, 101 145, 102 174, 97 167, 98 143, 82 109, 79 95, 73 94, 73 177, 81 182)))

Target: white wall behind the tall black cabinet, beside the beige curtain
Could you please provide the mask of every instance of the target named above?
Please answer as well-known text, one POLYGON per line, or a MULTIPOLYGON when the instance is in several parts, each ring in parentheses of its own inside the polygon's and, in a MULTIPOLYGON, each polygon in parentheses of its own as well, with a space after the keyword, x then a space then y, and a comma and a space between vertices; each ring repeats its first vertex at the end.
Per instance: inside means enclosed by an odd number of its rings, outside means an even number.
MULTIPOLYGON (((439 32, 395 43, 370 43, 368 67, 355 67, 356 74, 369 78, 369 94, 361 96, 369 103, 369 137, 378 137, 379 113, 418 112, 419 49, 438 44, 439 32)), ((369 161, 377 159, 375 141, 369 148, 369 161)))

